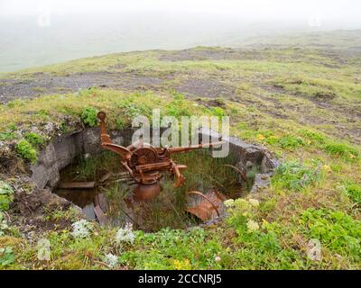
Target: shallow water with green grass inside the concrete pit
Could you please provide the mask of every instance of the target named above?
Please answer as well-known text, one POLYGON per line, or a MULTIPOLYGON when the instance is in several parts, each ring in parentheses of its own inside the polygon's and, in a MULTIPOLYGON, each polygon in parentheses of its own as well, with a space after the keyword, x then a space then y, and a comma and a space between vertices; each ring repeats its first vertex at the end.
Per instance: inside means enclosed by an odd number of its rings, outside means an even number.
MULTIPOLYGON (((227 165, 235 165, 236 157, 210 157, 208 149, 174 155, 178 163, 187 164, 184 170, 185 184, 174 188, 171 175, 164 173, 161 193, 149 202, 134 202, 134 180, 119 166, 115 153, 104 152, 96 157, 80 158, 60 173, 61 183, 96 181, 92 189, 57 189, 61 197, 82 208, 89 220, 101 224, 124 226, 132 222, 137 229, 155 231, 164 227, 185 229, 199 223, 199 219, 187 210, 188 192, 208 193, 218 191, 227 197, 240 197, 246 187, 240 184, 240 176, 227 165), (101 167, 101 168, 99 168, 101 167), (106 171, 112 171, 105 182, 100 180, 106 171)), ((210 193, 210 194, 209 194, 210 193)), ((204 202, 208 205, 208 202, 204 202)), ((218 206, 223 205, 218 201, 218 206)), ((212 205, 208 205, 212 208, 212 205)), ((222 207, 218 207, 222 210, 222 207)), ((193 213, 197 215, 197 213, 193 213)))

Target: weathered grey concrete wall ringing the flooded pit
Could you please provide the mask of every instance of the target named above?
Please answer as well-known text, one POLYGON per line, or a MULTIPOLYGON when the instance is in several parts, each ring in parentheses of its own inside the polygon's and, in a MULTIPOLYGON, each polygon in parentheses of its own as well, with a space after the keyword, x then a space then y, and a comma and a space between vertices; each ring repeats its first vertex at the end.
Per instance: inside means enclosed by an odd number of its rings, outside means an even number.
MULTIPOLYGON (((122 146, 131 144, 134 130, 114 130, 110 136, 114 143, 122 146)), ((217 140, 218 133, 209 130, 199 130, 201 135, 217 140)), ((236 137, 223 138, 229 143, 229 150, 236 157, 237 165, 245 173, 254 166, 260 168, 260 173, 255 175, 255 184, 251 193, 268 186, 273 170, 278 166, 277 159, 266 148, 247 143, 236 137)), ((60 170, 68 166, 76 157, 101 151, 99 128, 88 128, 77 133, 61 136, 54 139, 44 148, 36 165, 32 165, 32 181, 40 189, 54 189, 60 181, 60 170)), ((241 180, 241 179, 240 179, 241 180)), ((242 181, 242 180, 241 180, 242 181)))

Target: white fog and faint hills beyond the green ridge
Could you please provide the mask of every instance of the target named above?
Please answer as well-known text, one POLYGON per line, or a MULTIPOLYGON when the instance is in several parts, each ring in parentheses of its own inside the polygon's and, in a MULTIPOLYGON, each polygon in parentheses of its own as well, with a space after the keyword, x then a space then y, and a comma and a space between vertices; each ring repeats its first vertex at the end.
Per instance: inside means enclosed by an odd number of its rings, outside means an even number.
POLYGON ((361 28, 356 0, 0 0, 0 71, 249 37, 361 28))

